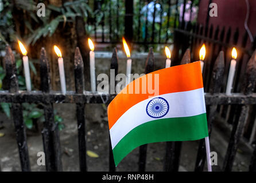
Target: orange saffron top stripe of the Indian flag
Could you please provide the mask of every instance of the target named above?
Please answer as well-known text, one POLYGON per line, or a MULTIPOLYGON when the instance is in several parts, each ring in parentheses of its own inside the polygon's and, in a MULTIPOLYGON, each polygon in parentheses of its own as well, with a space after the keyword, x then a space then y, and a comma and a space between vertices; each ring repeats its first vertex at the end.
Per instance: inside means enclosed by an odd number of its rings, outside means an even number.
POLYGON ((127 85, 122 91, 129 91, 129 89, 132 88, 133 94, 125 94, 121 92, 113 101, 111 101, 110 105, 108 105, 108 125, 110 129, 128 109, 143 100, 166 93, 185 92, 203 87, 200 62, 173 66, 154 71, 150 74, 152 74, 153 78, 153 87, 154 78, 157 77, 156 74, 159 74, 159 83, 156 83, 156 86, 160 87, 159 92, 152 94, 149 90, 151 87, 149 83, 142 82, 143 79, 147 79, 146 81, 149 81, 149 74, 129 83, 129 85, 127 85), (146 86, 145 94, 142 93, 142 86, 146 86), (138 89, 138 87, 140 89, 140 93, 135 93, 135 90, 138 89), (121 106, 121 104, 123 105, 121 106))

